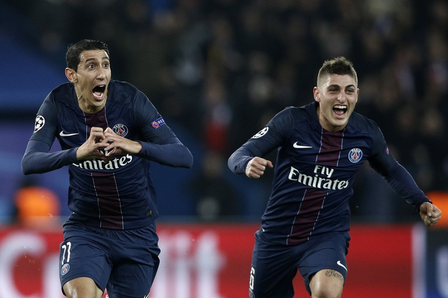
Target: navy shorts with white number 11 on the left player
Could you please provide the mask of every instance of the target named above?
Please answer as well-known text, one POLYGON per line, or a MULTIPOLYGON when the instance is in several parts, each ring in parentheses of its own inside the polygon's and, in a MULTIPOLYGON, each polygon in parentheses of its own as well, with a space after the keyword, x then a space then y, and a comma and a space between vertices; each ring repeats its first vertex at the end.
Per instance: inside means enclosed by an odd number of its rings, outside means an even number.
MULTIPOLYGON (((159 238, 155 224, 114 230, 66 222, 60 245, 61 285, 91 278, 110 298, 148 295, 159 268, 159 238)), ((64 291, 63 291, 64 292, 64 291)))

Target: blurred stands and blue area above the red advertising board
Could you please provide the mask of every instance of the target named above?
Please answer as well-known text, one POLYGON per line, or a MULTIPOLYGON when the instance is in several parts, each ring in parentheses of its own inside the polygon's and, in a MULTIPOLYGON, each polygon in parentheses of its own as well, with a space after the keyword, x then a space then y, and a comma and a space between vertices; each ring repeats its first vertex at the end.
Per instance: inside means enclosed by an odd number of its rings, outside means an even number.
MULTIPOLYGON (((0 219, 15 220, 17 190, 31 185, 69 214, 67 169, 25 177, 20 162, 40 104, 67 81, 67 46, 84 38, 109 45, 112 78, 143 91, 193 153, 189 170, 153 166, 161 219, 258 221, 272 173, 245 179, 227 158, 313 101, 322 62, 339 55, 358 72, 356 111, 426 193, 445 191, 447 36, 444 0, 2 0, 0 219)), ((354 221, 419 220, 367 164, 350 204, 354 221)))

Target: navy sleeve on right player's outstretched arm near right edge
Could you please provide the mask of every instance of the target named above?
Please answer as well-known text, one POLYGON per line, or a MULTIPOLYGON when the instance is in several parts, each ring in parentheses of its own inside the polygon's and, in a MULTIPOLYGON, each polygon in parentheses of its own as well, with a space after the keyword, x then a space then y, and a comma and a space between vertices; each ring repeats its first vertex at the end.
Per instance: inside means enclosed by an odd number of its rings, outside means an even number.
POLYGON ((397 162, 389 152, 386 141, 379 127, 375 124, 373 130, 373 151, 368 161, 376 172, 381 174, 387 184, 408 204, 419 210, 424 202, 430 202, 423 191, 417 186, 411 174, 397 162))

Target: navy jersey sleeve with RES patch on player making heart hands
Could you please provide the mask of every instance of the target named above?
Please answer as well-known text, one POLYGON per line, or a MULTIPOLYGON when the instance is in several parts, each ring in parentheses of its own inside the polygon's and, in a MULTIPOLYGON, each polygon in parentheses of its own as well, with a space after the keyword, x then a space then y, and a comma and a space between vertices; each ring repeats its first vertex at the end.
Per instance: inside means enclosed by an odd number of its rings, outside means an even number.
POLYGON ((145 140, 140 141, 142 150, 137 156, 163 165, 189 168, 193 156, 184 144, 171 131, 163 117, 149 99, 141 92, 134 106, 137 127, 145 140))

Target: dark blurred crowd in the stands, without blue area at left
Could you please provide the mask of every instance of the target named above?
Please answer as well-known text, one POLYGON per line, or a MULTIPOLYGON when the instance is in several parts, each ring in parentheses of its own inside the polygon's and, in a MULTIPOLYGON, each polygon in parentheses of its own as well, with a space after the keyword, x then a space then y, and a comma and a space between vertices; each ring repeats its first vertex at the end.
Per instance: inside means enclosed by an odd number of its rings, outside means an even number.
MULTIPOLYGON (((285 107, 312 102, 322 62, 343 55, 358 72, 355 111, 379 124, 424 191, 448 188, 445 0, 5 2, 29 20, 28 42, 53 60, 65 63, 67 46, 80 39, 105 41, 112 78, 137 86, 203 145, 192 186, 201 175, 222 181, 228 156, 285 107)), ((375 175, 365 168, 357 178, 354 215, 394 198, 375 175)), ((224 193, 230 186, 216 185, 203 196, 222 198, 198 198, 198 212, 237 212, 224 193)), ((393 205, 381 214, 390 212, 397 216, 393 205)))

